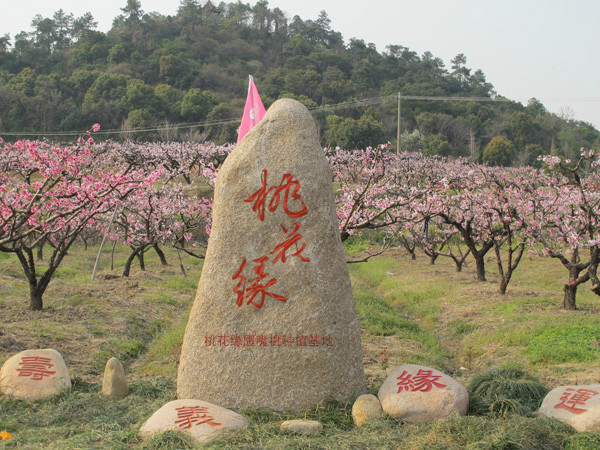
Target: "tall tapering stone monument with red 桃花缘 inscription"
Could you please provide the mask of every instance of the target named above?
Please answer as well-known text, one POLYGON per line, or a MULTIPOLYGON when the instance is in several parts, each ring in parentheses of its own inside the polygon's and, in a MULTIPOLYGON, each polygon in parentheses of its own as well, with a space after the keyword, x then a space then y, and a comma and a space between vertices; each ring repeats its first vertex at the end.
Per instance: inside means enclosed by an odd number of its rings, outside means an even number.
POLYGON ((301 410, 365 391, 331 180, 310 113, 290 99, 229 155, 183 341, 180 398, 301 410))

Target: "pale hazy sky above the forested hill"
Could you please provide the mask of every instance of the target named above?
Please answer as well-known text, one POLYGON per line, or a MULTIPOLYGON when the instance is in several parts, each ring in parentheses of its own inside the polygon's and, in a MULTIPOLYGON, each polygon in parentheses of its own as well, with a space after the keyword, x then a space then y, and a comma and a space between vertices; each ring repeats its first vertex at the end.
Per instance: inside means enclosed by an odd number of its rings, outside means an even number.
MULTIPOLYGON (((163 15, 174 15, 179 3, 141 0, 145 12, 163 15)), ((89 11, 97 29, 108 31, 125 4, 0 0, 0 35, 30 31, 36 14, 51 17, 59 9, 76 17, 89 11)), ((524 105, 535 97, 549 111, 600 130, 600 0, 270 0, 269 7, 304 20, 325 10, 345 42, 430 51, 447 68, 463 53, 466 66, 481 69, 498 94, 524 105)))

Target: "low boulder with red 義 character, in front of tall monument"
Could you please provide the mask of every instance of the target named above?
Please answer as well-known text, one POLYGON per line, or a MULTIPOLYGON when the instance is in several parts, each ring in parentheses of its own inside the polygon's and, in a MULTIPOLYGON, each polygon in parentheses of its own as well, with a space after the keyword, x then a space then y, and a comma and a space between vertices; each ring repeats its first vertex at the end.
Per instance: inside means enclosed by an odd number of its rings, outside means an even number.
POLYGON ((139 434, 147 439, 157 433, 178 430, 204 444, 249 424, 248 419, 236 412, 208 402, 184 399, 169 402, 156 411, 142 425, 139 434))

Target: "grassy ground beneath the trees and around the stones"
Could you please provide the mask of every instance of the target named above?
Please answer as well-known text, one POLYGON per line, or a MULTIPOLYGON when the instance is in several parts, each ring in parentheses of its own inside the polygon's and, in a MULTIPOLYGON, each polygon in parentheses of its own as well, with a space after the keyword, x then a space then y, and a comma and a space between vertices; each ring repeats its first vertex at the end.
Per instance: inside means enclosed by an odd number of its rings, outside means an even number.
MULTIPOLYGON (((356 250, 349 246, 349 250, 356 250)), ((95 281, 97 248, 76 248, 50 284, 45 310, 27 310, 28 288, 16 259, 0 254, 0 364, 18 351, 55 348, 74 380, 70 394, 22 402, 0 397, 0 431, 13 438, 0 449, 175 449, 192 448, 185 436, 165 433, 142 442, 140 425, 175 398, 179 345, 201 271, 185 259, 188 277, 168 254, 169 266, 148 255, 147 271, 120 278, 127 252, 117 249, 114 271, 103 267, 95 281), (99 395, 104 364, 123 361, 131 395, 99 395)), ((489 368, 517 367, 548 388, 600 382, 600 299, 586 288, 578 311, 563 311, 566 271, 549 259, 528 256, 500 296, 492 261, 489 281, 476 282, 473 265, 457 273, 438 259, 411 261, 400 250, 367 263, 351 264, 361 320, 368 389, 376 393, 386 373, 418 363, 443 370, 467 385, 489 368), (389 359, 388 359, 389 358, 389 359)), ((385 418, 355 428, 351 405, 319 405, 294 416, 244 411, 249 430, 214 441, 214 449, 600 449, 600 433, 575 434, 557 421, 506 414, 470 415, 444 422, 409 425, 385 418), (320 420, 316 437, 280 431, 288 418, 320 420)))

